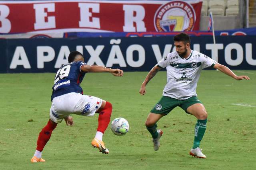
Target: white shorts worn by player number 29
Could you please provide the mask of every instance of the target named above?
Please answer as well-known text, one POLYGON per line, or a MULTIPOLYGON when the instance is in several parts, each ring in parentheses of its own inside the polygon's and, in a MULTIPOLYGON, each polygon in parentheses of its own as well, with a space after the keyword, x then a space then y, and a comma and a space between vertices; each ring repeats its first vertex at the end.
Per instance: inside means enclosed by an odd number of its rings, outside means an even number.
POLYGON ((82 95, 80 93, 64 94, 52 100, 50 119, 55 123, 60 123, 70 113, 93 116, 101 104, 102 100, 94 96, 82 95))

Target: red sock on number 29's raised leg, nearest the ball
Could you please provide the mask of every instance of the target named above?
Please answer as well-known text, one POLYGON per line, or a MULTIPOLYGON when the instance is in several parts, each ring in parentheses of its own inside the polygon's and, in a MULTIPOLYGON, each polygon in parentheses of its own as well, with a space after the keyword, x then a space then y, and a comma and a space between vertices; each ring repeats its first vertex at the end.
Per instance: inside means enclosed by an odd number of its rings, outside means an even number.
POLYGON ((100 111, 100 115, 98 118, 98 129, 97 131, 104 133, 108 127, 108 123, 110 122, 110 116, 112 113, 112 104, 110 102, 106 102, 105 107, 100 111))

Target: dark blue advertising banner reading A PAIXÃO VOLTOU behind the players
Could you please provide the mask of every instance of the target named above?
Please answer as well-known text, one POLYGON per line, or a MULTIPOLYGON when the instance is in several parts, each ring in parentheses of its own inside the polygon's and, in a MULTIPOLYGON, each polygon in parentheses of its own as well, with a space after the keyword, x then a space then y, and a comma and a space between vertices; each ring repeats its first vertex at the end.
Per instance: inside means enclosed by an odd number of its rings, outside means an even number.
MULTIPOLYGON (((231 69, 256 69, 256 36, 191 37, 191 48, 231 69), (254 48, 253 48, 254 47, 254 48)), ((70 51, 84 54, 87 64, 149 71, 175 51, 173 37, 78 39, 4 39, 0 41, 0 72, 56 72, 68 63, 70 51)))

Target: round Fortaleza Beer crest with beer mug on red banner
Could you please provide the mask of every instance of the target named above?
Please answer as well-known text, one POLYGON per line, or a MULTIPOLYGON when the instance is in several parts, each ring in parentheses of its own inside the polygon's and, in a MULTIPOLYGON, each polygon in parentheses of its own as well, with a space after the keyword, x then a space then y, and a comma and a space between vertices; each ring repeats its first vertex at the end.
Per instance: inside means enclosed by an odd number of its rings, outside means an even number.
POLYGON ((194 8, 184 1, 171 1, 158 8, 154 16, 156 31, 192 31, 196 22, 194 8))

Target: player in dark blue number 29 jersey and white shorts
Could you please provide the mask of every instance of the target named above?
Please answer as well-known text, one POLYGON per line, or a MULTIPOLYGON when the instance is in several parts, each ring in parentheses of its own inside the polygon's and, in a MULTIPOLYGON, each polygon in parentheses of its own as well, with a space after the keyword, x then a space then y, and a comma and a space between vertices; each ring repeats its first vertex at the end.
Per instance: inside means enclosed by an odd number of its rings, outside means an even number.
POLYGON ((109 153, 102 141, 102 136, 110 122, 112 104, 94 96, 83 95, 80 83, 88 72, 110 72, 114 76, 123 76, 123 71, 120 69, 88 65, 84 63, 84 57, 81 53, 72 51, 68 56, 68 64, 61 66, 56 73, 52 86, 50 119, 39 133, 36 152, 31 162, 45 162, 41 157, 42 150, 58 123, 64 119, 66 125, 72 126, 74 124, 70 113, 82 116, 93 116, 95 113, 99 113, 98 129, 91 144, 93 147, 97 147, 100 152, 109 153))

